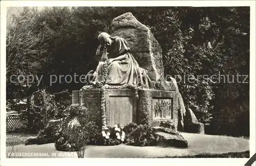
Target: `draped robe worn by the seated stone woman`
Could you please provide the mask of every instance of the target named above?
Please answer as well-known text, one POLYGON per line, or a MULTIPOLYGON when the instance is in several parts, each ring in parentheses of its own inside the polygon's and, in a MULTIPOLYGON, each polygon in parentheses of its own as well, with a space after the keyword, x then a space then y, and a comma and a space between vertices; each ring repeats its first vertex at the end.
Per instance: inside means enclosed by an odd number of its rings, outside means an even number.
MULTIPOLYGON (((139 68, 139 64, 136 62, 132 54, 129 52, 130 45, 127 41, 121 37, 111 37, 113 43, 107 48, 110 58, 116 58, 124 54, 127 55, 127 59, 121 61, 113 61, 108 66, 108 76, 105 84, 115 86, 138 86, 143 84, 142 74, 139 68)), ((100 54, 102 49, 99 45, 96 54, 100 54)), ((99 62, 96 68, 95 81, 100 81, 103 70, 103 62, 99 62)))

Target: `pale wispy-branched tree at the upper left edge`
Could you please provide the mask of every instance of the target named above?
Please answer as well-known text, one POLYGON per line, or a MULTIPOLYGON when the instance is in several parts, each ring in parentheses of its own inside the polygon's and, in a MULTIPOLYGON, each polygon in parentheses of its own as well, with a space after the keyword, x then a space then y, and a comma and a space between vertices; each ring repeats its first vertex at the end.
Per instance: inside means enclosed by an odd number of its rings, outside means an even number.
POLYGON ((30 74, 36 74, 41 69, 47 56, 47 34, 42 32, 37 24, 38 11, 36 8, 24 8, 19 15, 12 16, 12 22, 8 26, 6 43, 6 71, 7 76, 18 75, 26 78, 30 74))

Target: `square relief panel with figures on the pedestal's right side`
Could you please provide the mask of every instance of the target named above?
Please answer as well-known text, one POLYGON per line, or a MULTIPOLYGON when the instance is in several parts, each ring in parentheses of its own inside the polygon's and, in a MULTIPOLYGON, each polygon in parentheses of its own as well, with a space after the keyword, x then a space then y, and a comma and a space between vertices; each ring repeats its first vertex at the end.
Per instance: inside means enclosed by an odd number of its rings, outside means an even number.
POLYGON ((152 99, 153 120, 170 120, 172 115, 172 99, 152 99))

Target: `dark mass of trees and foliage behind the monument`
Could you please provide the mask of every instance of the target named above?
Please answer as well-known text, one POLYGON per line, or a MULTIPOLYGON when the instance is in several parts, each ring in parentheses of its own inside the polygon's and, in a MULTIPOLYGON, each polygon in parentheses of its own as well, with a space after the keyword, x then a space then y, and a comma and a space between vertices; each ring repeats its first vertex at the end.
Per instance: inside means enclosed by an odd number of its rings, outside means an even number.
POLYGON ((39 87, 7 81, 7 98, 13 98, 14 92, 28 96, 37 89, 54 93, 81 88, 82 84, 64 80, 50 86, 49 76, 81 75, 95 69, 98 33, 111 33, 112 20, 125 12, 147 25, 160 43, 165 75, 208 75, 178 85, 184 101, 208 125, 206 132, 248 136, 249 84, 229 84, 223 77, 214 82, 210 77, 249 74, 247 7, 25 8, 14 17, 15 26, 7 34, 7 78, 13 73, 35 73, 43 75, 43 81, 39 87))

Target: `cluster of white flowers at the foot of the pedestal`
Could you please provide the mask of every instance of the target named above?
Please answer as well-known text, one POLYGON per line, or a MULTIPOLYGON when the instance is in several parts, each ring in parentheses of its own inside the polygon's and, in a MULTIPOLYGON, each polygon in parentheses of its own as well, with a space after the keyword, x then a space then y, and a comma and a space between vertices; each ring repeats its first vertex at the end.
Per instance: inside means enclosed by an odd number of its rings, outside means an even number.
POLYGON ((119 145, 125 140, 125 132, 122 130, 120 125, 105 127, 101 134, 103 138, 103 145, 105 146, 119 145))

